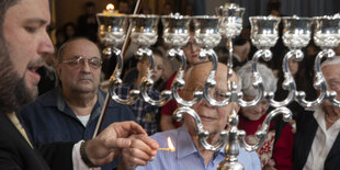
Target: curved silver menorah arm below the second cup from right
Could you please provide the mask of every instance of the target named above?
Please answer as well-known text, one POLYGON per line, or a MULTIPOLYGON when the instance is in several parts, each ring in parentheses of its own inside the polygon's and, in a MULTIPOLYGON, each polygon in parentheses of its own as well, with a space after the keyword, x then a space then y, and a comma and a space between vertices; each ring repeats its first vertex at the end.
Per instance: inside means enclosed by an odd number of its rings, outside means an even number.
POLYGON ((296 83, 295 83, 294 77, 291 73, 290 66, 288 66, 290 59, 292 57, 295 57, 293 59, 295 59, 296 61, 301 61, 304 58, 304 53, 301 49, 292 49, 284 56, 283 63, 282 63, 282 71, 284 73, 284 81, 282 83, 282 88, 288 91, 288 95, 286 99, 282 101, 275 101, 274 92, 268 92, 265 94, 265 98, 269 101, 270 105, 274 107, 286 106, 293 100, 295 100, 296 83))

